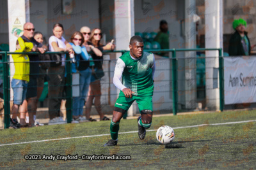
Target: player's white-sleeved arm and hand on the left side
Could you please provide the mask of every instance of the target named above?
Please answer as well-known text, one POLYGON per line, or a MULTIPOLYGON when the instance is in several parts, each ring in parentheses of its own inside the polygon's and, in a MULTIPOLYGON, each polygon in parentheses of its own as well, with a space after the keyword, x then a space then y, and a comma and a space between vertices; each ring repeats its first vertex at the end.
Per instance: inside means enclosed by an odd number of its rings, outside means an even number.
POLYGON ((115 67, 115 73, 114 73, 114 78, 113 78, 113 83, 114 85, 122 90, 122 92, 124 92, 125 97, 132 97, 132 90, 128 89, 127 87, 125 87, 122 82, 120 81, 122 74, 124 72, 124 68, 125 68, 125 63, 122 59, 118 59, 116 61, 116 67, 115 67))

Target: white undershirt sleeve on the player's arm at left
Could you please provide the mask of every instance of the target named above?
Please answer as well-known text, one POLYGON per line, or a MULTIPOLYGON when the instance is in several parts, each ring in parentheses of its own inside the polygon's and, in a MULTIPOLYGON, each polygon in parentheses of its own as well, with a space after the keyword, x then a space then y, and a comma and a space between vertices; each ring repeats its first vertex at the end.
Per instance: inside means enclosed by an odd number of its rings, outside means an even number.
POLYGON ((115 67, 115 73, 114 73, 114 78, 113 78, 113 83, 114 85, 120 89, 120 90, 123 90, 127 87, 125 87, 122 82, 120 81, 121 77, 122 77, 122 74, 124 72, 124 68, 125 68, 125 63, 122 59, 118 59, 116 61, 116 67, 115 67))

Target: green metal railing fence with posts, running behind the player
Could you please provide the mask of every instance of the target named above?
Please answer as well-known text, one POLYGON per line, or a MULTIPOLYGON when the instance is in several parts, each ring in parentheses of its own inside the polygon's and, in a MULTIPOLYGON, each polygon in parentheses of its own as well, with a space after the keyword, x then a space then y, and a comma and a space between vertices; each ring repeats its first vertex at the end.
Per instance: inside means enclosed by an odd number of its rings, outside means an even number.
MULTIPOLYGON (((205 52, 205 51, 218 51, 219 53, 219 82, 220 82, 220 111, 223 111, 224 97, 223 97, 223 57, 221 57, 222 49, 221 48, 195 48, 195 49, 168 49, 168 50, 145 50, 147 52, 170 52, 172 53, 172 57, 170 57, 170 63, 172 63, 172 110, 173 115, 177 115, 178 113, 178 80, 177 80, 177 52, 205 52), (172 61, 171 61, 172 60, 172 61)), ((125 53, 127 50, 116 50, 116 51, 104 51, 104 53, 125 53)), ((10 54, 14 54, 15 52, 0 52, 0 55, 3 57, 3 99, 4 99, 4 128, 8 128, 10 125, 10 60, 8 60, 8 56, 10 54)), ((64 52, 46 52, 47 54, 53 53, 64 53, 64 52)), ((25 54, 22 53, 22 54, 25 54)), ((26 53, 28 54, 28 52, 26 53)), ((29 52, 29 55, 35 54, 38 55, 38 52, 29 52)), ((67 81, 65 86, 67 87, 67 122, 72 122, 72 71, 71 71, 71 61, 69 60, 69 55, 67 54, 66 60, 66 69, 67 69, 67 81)), ((196 58, 196 56, 195 56, 196 58)), ((109 67, 110 67, 109 61, 109 67)), ((108 70, 108 75, 110 78, 110 71, 108 70)), ((110 80, 108 81, 110 83, 110 80)), ((109 84, 110 87, 110 84, 109 84)))

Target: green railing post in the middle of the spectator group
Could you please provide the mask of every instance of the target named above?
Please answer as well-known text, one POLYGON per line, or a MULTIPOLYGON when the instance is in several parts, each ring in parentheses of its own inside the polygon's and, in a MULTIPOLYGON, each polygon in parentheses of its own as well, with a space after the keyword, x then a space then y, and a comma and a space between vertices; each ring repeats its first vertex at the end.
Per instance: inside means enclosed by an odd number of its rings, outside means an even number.
POLYGON ((72 122, 72 67, 69 53, 66 53, 66 64, 67 64, 67 122, 72 122))

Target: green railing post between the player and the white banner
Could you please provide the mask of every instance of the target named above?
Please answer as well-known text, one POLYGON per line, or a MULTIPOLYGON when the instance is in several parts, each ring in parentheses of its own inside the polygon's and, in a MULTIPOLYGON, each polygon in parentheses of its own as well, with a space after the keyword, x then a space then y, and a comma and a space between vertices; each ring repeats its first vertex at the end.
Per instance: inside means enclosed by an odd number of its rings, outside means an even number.
POLYGON ((176 49, 172 51, 172 110, 173 115, 177 115, 177 60, 176 49))

